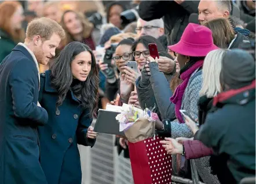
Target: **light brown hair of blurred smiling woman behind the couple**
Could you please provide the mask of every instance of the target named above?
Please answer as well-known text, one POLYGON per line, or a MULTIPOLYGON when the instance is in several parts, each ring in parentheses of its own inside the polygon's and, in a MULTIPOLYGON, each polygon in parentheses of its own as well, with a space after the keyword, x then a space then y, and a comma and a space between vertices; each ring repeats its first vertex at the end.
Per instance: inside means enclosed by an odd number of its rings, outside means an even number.
POLYGON ((70 32, 68 32, 68 29, 65 26, 65 22, 64 22, 64 16, 68 12, 75 13, 78 16, 79 20, 82 22, 82 26, 83 26, 83 39, 88 38, 91 35, 92 30, 93 30, 93 24, 91 22, 89 22, 87 20, 87 18, 82 13, 75 12, 74 10, 67 10, 67 11, 65 11, 63 13, 62 17, 61 17, 61 20, 60 20, 60 25, 63 27, 63 29, 65 30, 65 33, 66 33, 66 37, 65 37, 64 43, 62 44, 63 46, 66 46, 68 43, 71 43, 71 42, 75 41, 73 39, 72 35, 70 34, 70 32))

